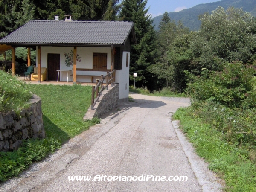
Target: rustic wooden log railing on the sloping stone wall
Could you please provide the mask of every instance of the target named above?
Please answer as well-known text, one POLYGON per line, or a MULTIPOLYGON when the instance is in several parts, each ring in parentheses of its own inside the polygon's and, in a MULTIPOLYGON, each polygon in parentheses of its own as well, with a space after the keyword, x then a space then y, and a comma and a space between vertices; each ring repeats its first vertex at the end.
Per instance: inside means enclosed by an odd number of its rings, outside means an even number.
POLYGON ((112 72, 108 72, 107 75, 105 76, 101 76, 101 80, 97 79, 96 81, 96 86, 92 87, 92 100, 91 100, 91 110, 93 110, 94 106, 96 105, 96 102, 99 101, 99 97, 102 95, 102 91, 104 91, 105 89, 108 90, 108 85, 111 84, 111 86, 114 83, 114 72, 115 70, 113 70, 112 72), (103 86, 103 81, 106 79, 106 84, 105 86, 103 86), (100 87, 100 90, 99 90, 100 87), (96 93, 96 99, 95 99, 95 93, 96 93))

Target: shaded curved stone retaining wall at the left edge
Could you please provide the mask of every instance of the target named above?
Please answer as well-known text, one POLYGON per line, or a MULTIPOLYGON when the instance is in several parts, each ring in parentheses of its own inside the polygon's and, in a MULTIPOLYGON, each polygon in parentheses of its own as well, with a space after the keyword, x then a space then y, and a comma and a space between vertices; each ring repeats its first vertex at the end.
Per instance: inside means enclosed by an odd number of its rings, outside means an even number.
POLYGON ((45 138, 41 98, 33 95, 31 107, 22 110, 20 116, 0 113, 0 151, 17 150, 21 141, 29 138, 45 138))

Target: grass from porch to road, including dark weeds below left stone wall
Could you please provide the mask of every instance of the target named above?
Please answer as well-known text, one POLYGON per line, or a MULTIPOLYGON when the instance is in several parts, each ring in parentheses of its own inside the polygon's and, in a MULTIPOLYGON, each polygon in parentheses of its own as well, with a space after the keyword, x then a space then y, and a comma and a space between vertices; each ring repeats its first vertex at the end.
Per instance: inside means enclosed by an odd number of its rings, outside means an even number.
POLYGON ((90 106, 91 86, 26 84, 26 90, 42 99, 47 138, 26 140, 17 151, 0 152, 0 181, 17 176, 32 162, 39 161, 60 148, 61 143, 99 123, 98 118, 83 120, 90 106))

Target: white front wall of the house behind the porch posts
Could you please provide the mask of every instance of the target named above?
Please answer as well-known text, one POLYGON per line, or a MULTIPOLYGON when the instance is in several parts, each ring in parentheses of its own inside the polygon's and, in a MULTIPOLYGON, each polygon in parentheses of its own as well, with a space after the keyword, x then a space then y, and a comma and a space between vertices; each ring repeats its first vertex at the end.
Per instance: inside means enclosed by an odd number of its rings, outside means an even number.
MULTIPOLYGON (((38 47, 37 47, 38 49, 38 47)), ((73 50, 73 47, 41 47, 41 67, 47 67, 47 54, 55 53, 60 54, 60 69, 61 70, 72 70, 73 66, 66 67, 65 64, 65 53, 70 53, 73 50)), ((111 69, 111 48, 110 47, 77 47, 77 54, 81 57, 81 62, 77 61, 76 68, 93 68, 93 53, 107 53, 107 69, 111 69)), ((38 58, 38 55, 36 55, 38 58)), ((36 65, 38 64, 38 60, 36 65)), ((73 74, 73 70, 71 71, 73 74)), ((77 75, 106 75, 107 72, 102 71, 77 71, 77 75)), ((62 72, 61 81, 67 81, 67 73, 62 72)), ((56 79, 57 80, 57 79, 56 79)), ((73 81, 72 77, 71 80, 73 81)), ((90 77, 77 77, 78 82, 90 82, 90 77)), ((96 82, 96 79, 94 79, 96 82)))

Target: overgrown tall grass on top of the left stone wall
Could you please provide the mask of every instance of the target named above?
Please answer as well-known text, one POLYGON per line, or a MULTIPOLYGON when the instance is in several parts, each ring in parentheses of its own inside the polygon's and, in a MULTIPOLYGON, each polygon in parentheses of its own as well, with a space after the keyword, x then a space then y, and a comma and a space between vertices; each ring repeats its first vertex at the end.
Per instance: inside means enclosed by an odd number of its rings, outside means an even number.
POLYGON ((22 108, 28 108, 27 103, 32 93, 24 82, 15 76, 0 70, 0 112, 15 111, 19 113, 22 108))

